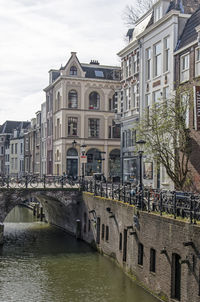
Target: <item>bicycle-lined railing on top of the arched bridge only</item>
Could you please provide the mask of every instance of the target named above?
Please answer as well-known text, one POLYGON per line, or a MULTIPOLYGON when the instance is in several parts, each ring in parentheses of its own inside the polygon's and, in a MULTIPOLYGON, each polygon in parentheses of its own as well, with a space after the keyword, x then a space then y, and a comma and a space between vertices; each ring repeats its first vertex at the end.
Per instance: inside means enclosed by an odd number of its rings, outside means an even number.
POLYGON ((73 179, 66 175, 49 176, 26 174, 21 177, 0 176, 0 188, 69 188, 78 187, 79 178, 73 179))

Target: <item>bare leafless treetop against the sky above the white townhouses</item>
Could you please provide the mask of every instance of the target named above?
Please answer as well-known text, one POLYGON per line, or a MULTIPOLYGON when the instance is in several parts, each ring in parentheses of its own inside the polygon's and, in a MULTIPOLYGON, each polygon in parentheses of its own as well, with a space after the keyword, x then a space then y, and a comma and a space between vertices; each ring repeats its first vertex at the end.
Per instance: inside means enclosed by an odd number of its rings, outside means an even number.
POLYGON ((133 26, 155 3, 155 0, 135 0, 134 5, 127 5, 123 11, 122 19, 128 26, 133 26))

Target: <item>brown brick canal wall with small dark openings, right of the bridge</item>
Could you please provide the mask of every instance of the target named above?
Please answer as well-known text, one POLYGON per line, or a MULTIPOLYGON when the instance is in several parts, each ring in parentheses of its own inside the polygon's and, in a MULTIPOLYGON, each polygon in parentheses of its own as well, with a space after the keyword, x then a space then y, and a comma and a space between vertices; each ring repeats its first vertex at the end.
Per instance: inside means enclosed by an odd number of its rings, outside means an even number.
POLYGON ((200 226, 83 193, 82 239, 164 301, 200 299, 200 226))

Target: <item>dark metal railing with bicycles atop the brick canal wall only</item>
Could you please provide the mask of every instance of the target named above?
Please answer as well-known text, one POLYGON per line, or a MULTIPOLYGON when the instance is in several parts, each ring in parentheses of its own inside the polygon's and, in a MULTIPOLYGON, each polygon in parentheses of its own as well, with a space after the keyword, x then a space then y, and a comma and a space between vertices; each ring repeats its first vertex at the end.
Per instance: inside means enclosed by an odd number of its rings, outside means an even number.
POLYGON ((131 184, 122 186, 97 181, 82 181, 81 187, 95 196, 135 205, 142 211, 168 215, 174 219, 189 219, 190 223, 200 221, 200 194, 150 188, 139 191, 138 187, 131 184))

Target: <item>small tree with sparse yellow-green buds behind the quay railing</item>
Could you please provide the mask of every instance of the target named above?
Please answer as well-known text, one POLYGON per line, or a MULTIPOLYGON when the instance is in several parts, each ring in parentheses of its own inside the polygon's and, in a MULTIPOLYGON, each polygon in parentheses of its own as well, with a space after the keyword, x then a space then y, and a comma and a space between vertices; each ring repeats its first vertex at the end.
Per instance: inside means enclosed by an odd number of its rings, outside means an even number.
POLYGON ((165 167, 179 190, 184 188, 188 180, 192 151, 186 122, 191 99, 191 90, 185 88, 180 92, 177 89, 176 97, 159 100, 145 111, 138 126, 139 137, 146 141, 147 154, 165 167))

